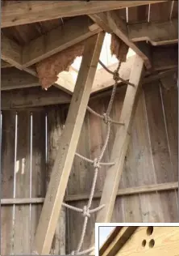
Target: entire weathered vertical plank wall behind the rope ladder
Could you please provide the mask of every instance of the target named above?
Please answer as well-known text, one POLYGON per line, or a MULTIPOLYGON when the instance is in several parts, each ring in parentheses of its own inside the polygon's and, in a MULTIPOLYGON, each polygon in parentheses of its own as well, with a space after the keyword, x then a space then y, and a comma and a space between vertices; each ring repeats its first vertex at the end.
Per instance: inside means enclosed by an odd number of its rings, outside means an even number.
MULTIPOLYGON (((115 96, 111 112, 115 120, 119 119, 125 91, 123 87, 115 96)), ((90 107, 103 113, 108 101, 109 96, 96 98, 90 101, 90 107)), ((144 86, 139 95, 119 188, 178 181, 177 109, 177 87, 168 89, 160 81, 144 86)), ((41 109, 32 113, 2 112, 2 198, 44 197, 67 111, 66 105, 49 107, 46 112, 41 109)), ((117 126, 112 126, 103 161, 110 158, 116 130, 117 126)), ((86 113, 77 152, 94 159, 102 149, 105 137, 106 126, 102 120, 86 113)), ((96 192, 102 191, 106 170, 103 166, 99 171, 96 192)), ((66 194, 90 194, 93 175, 93 166, 76 156, 66 194)), ((98 206, 98 203, 99 200, 95 199, 92 207, 98 206)), ((86 201, 71 204, 83 207, 86 201)), ((2 254, 31 252, 41 208, 41 204, 2 206, 2 254)), ((91 215, 83 249, 89 247, 95 217, 91 215)), ((77 212, 68 210, 66 216, 65 210, 61 212, 52 254, 65 254, 65 247, 66 253, 77 249, 82 220, 82 215, 77 212), (61 237, 66 237, 66 242, 61 237)), ((118 197, 112 221, 177 222, 177 191, 118 197)))

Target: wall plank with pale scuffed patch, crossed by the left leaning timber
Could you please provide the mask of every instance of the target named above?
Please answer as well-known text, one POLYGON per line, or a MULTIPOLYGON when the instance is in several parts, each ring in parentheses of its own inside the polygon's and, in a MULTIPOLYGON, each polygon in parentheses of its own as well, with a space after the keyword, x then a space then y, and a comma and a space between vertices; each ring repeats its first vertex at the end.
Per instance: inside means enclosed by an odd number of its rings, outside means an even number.
MULTIPOLYGON (((64 129, 65 119, 63 118, 63 107, 54 106, 48 109, 48 160, 47 160, 47 185, 50 181, 52 167, 59 148, 60 136, 64 129)), ((50 254, 65 254, 65 208, 60 211, 56 232, 52 241, 50 254)))

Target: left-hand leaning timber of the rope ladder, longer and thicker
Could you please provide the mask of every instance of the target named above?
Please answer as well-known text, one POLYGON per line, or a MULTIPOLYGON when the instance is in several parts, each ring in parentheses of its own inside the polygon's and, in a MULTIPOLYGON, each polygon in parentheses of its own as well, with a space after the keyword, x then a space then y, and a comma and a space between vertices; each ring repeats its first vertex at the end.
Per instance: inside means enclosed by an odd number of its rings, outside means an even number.
POLYGON ((44 207, 35 234, 35 251, 38 254, 48 254, 52 245, 52 238, 56 230, 61 204, 64 200, 85 110, 90 98, 90 90, 97 70, 104 34, 104 32, 101 32, 97 36, 90 37, 85 44, 81 68, 65 122, 65 130, 60 138, 44 207))

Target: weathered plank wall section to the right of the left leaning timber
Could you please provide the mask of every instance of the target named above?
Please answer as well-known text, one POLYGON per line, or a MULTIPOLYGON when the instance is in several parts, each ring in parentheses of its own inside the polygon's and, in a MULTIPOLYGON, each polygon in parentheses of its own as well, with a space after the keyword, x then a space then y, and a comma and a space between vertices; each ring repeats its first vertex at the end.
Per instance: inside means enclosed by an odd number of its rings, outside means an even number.
MULTIPOLYGON (((171 79, 172 81, 172 79, 171 79)), ((111 117, 119 119, 125 89, 115 96, 111 117)), ((109 97, 90 102, 91 108, 103 113, 109 97)), ((119 188, 152 185, 178 181, 177 174, 177 87, 169 90, 160 81, 146 84, 139 95, 139 104, 131 131, 131 142, 127 151, 125 169, 119 188)), ((108 161, 117 127, 113 126, 110 143, 103 161, 108 161)), ((106 126, 102 120, 86 113, 81 139, 77 152, 94 159, 98 156, 106 136, 106 126)), ((93 167, 79 158, 75 158, 73 171, 69 179, 67 194, 90 194, 93 167)), ((102 191, 106 168, 99 171, 96 192, 102 191)), ((98 199, 93 207, 97 207, 98 199)), ((86 201, 71 203, 83 207, 86 201)), ((81 235, 83 219, 81 214, 68 210, 67 253, 76 250, 81 235), (74 227, 77 227, 74 228, 74 227)), ((178 222, 177 191, 152 192, 121 196, 116 199, 112 222, 178 222)), ((94 228, 95 215, 87 226, 87 236, 83 249, 90 246, 90 236, 94 228)))

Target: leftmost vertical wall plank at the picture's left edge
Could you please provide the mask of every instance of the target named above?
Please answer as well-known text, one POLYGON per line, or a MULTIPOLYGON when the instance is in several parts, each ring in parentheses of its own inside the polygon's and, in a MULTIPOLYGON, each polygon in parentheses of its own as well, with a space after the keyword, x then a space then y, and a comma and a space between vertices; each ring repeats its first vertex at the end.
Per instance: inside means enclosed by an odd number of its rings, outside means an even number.
MULTIPOLYGON (((2 112, 1 198, 13 198, 15 166, 15 112, 2 112)), ((13 206, 1 207, 1 254, 13 254, 13 206)))

